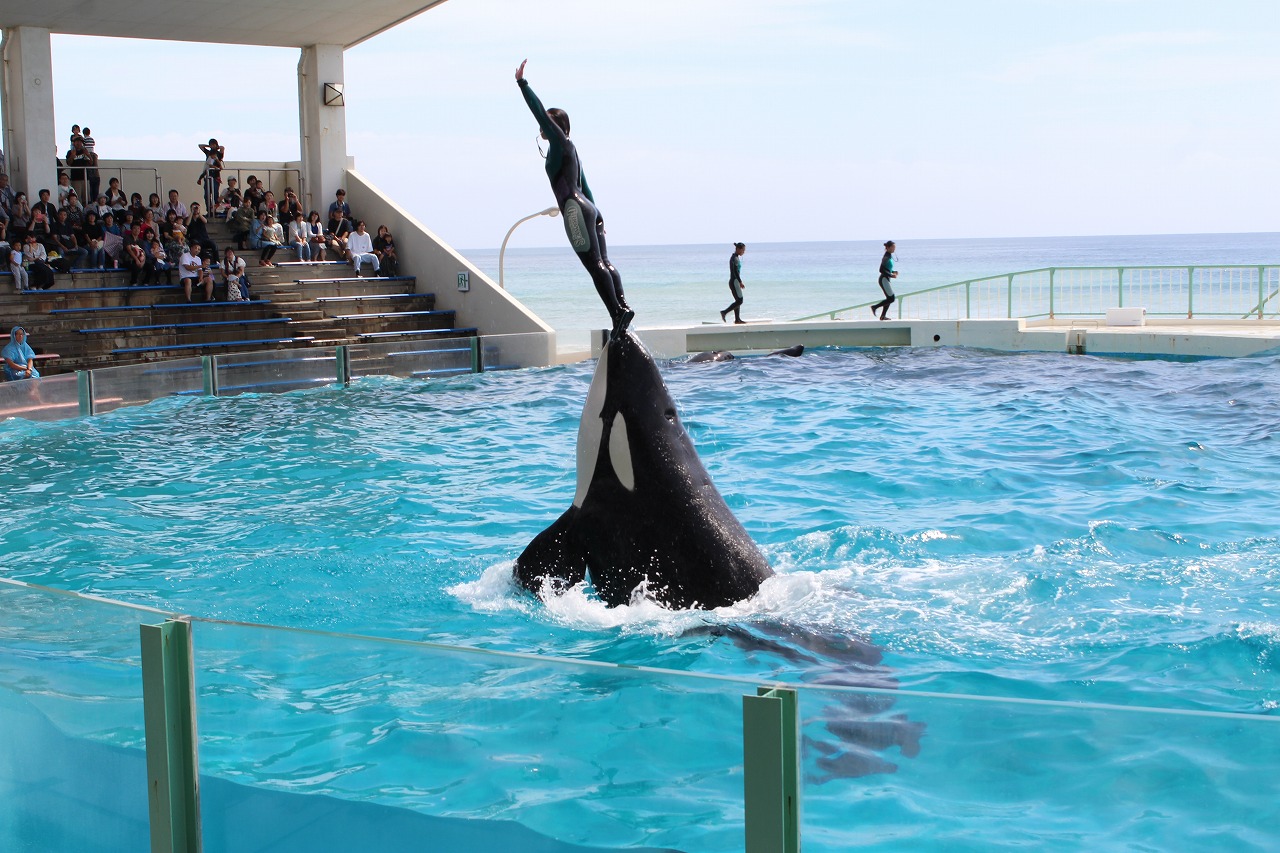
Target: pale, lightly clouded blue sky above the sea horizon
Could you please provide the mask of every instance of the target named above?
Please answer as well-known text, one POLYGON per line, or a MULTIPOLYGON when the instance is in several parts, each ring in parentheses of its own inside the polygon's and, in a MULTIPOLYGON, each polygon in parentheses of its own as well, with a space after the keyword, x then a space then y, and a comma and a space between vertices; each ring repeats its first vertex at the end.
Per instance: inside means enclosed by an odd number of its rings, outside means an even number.
MULTIPOLYGON (((1277 45, 1275 0, 449 0, 347 51, 347 129, 460 248, 553 202, 524 58, 617 245, 1275 232, 1277 45)), ((294 159, 296 64, 55 36, 59 136, 294 159), (108 99, 104 56, 138 68, 108 99)), ((543 218, 512 246, 562 240, 543 218)))

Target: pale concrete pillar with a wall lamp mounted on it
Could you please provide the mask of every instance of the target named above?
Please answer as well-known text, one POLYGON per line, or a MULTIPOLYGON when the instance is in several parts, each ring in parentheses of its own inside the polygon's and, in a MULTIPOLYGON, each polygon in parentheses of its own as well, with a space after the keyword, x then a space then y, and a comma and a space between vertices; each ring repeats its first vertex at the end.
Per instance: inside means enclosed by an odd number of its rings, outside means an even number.
POLYGON ((347 109, 340 45, 311 45, 298 61, 298 132, 302 134, 302 201, 326 215, 347 177, 347 109), (326 105, 326 101, 329 104, 326 105))

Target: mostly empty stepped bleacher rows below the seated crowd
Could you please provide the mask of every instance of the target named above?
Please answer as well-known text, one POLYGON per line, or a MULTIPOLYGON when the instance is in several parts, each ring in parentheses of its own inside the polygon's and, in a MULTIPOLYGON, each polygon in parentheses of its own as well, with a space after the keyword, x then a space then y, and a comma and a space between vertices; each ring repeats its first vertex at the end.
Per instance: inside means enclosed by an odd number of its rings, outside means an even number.
MULTIPOLYGON (((219 247, 233 245, 221 222, 209 224, 219 247)), ((251 251, 244 252, 252 259, 251 251)), ((174 286, 129 287, 124 270, 73 270, 58 275, 47 291, 18 293, 12 277, 0 275, 0 318, 27 329, 32 347, 45 356, 44 375, 113 365, 223 352, 251 352, 315 346, 472 337, 456 328, 452 311, 435 310, 435 298, 416 293, 408 275, 356 278, 349 264, 287 261, 251 265, 248 302, 225 298, 188 302, 174 286)), ((197 296, 198 298, 198 296, 197 296)))

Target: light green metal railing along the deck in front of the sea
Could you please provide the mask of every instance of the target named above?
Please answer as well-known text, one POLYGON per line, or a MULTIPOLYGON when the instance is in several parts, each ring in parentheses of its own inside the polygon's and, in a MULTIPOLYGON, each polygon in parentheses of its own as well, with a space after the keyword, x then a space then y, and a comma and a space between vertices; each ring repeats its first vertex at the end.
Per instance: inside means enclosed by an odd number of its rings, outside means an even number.
MULTIPOLYGON (((799 320, 838 319, 879 300, 799 320)), ((1280 319, 1280 265, 1044 266, 900 293, 897 319, 1055 319, 1143 307, 1151 316, 1280 319)))

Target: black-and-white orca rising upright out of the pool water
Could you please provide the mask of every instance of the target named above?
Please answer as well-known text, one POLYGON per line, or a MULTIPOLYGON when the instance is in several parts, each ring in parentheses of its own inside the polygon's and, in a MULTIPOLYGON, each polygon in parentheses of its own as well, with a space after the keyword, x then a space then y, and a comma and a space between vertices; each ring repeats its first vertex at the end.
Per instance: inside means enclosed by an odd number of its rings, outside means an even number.
POLYGON ((577 432, 573 503, 516 560, 516 580, 572 585, 607 605, 637 587, 677 608, 750 598, 773 575, 712 484, 658 365, 630 333, 600 353, 577 432))

